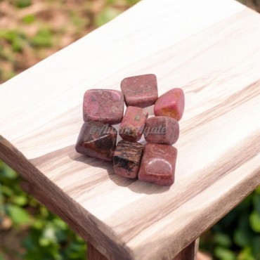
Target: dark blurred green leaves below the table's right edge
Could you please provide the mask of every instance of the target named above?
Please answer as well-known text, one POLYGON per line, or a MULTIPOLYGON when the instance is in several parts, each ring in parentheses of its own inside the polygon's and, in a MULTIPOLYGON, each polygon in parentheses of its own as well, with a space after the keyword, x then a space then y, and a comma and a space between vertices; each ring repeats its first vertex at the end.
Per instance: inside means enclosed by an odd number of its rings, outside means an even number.
POLYGON ((221 260, 260 259, 260 187, 200 240, 200 247, 221 260))

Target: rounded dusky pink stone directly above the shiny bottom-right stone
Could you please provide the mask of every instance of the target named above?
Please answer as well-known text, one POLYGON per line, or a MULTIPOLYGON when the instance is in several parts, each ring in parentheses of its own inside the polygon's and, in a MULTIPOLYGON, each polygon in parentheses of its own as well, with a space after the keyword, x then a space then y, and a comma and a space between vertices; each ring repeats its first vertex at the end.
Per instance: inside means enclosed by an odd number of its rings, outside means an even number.
POLYGON ((145 122, 143 134, 148 143, 172 145, 178 140, 178 121, 172 117, 150 117, 145 122))

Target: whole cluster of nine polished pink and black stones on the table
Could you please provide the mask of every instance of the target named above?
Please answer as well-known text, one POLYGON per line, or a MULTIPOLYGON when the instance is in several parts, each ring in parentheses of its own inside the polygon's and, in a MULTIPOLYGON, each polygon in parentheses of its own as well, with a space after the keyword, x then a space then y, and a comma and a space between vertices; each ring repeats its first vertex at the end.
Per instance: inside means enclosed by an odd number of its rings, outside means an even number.
POLYGON ((123 79, 121 90, 85 92, 77 152, 112 161, 120 176, 171 186, 177 157, 172 145, 178 140, 185 103, 182 89, 171 89, 158 98, 155 74, 145 74, 123 79), (143 108, 151 105, 155 116, 148 118, 143 108), (115 124, 120 124, 119 131, 115 124), (117 143, 118 132, 122 140, 117 143), (144 146, 138 143, 142 135, 144 146))

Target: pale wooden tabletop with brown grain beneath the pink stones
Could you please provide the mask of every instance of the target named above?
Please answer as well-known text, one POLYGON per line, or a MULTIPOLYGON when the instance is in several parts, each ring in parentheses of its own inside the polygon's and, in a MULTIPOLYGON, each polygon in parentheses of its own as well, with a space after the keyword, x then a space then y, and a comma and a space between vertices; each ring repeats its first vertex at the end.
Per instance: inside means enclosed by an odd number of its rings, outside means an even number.
POLYGON ((142 1, 0 86, 0 158, 109 259, 172 259, 260 183, 259 28, 232 0, 142 1), (171 188, 74 151, 84 91, 145 73, 186 93, 171 188))

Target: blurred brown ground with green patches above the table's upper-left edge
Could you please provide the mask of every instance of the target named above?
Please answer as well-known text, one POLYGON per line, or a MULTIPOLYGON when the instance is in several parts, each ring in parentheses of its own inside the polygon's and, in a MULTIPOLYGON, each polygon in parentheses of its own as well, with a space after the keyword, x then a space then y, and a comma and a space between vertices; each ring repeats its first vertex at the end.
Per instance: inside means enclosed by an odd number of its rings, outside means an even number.
POLYGON ((138 1, 0 0, 0 84, 138 1))

